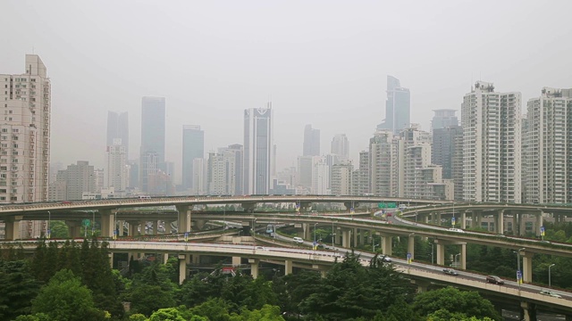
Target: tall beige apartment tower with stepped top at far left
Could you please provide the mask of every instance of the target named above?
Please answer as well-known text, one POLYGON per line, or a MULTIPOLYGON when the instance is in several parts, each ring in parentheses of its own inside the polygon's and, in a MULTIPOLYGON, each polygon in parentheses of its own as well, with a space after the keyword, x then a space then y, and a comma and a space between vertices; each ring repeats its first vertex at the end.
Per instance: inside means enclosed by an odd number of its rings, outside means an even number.
POLYGON ((47 200, 51 97, 37 54, 26 54, 25 73, 0 74, 0 203, 47 200))

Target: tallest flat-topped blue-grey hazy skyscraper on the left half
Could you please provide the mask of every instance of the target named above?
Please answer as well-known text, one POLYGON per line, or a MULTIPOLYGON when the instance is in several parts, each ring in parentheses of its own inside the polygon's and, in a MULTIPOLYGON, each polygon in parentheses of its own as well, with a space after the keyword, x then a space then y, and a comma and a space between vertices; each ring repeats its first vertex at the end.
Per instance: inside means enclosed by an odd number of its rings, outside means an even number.
POLYGON ((139 185, 148 191, 149 176, 164 170, 165 103, 164 97, 143 97, 141 101, 141 150, 139 185))

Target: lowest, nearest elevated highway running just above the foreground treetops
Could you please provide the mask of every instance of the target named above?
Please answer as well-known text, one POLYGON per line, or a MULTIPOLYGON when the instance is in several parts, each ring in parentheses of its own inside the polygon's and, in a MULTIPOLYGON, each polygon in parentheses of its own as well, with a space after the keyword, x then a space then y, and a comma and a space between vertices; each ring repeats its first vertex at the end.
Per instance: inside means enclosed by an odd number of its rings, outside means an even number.
MULTIPOLYGON (((33 250, 35 242, 20 242, 19 244, 26 250, 33 250)), ((180 282, 187 276, 187 262, 189 254, 208 254, 216 256, 232 256, 248 258, 253 276, 257 276, 258 264, 261 259, 283 261, 286 273, 291 273, 293 263, 306 266, 324 273, 336 259, 341 259, 341 253, 332 251, 307 251, 300 249, 261 247, 254 245, 240 244, 213 244, 213 243, 173 243, 173 242, 133 242, 114 241, 108 245, 109 251, 118 252, 147 252, 147 253, 167 253, 176 255, 180 260, 180 282)), ((362 260, 362 264, 367 266, 369 258, 362 260)), ((459 276, 446 276, 433 266, 420 263, 408 264, 407 261, 395 259, 394 264, 401 273, 409 276, 418 283, 420 289, 426 286, 427 282, 437 284, 449 284, 458 287, 471 289, 478 292, 493 293, 507 300, 524 302, 524 308, 532 305, 543 306, 558 313, 572 316, 572 293, 561 292, 561 298, 548 297, 540 294, 541 287, 514 282, 507 282, 504 285, 487 284, 484 276, 463 272, 459 276)))

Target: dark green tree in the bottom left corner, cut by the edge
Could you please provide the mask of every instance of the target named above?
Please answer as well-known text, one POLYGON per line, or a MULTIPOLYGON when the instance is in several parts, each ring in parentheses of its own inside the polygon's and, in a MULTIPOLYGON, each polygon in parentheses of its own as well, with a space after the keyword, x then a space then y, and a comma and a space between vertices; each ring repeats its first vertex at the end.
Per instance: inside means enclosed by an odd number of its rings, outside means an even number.
POLYGON ((11 320, 31 310, 40 283, 31 275, 25 260, 0 260, 0 319, 11 320))

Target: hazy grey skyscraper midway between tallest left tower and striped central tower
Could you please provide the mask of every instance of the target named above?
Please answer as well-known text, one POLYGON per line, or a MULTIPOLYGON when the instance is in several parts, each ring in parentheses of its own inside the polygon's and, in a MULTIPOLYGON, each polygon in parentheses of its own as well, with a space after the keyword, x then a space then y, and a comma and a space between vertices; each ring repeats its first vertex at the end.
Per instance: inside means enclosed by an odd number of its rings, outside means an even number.
POLYGON ((205 131, 198 125, 182 127, 182 186, 193 189, 193 160, 205 157, 205 131))

